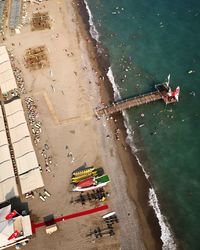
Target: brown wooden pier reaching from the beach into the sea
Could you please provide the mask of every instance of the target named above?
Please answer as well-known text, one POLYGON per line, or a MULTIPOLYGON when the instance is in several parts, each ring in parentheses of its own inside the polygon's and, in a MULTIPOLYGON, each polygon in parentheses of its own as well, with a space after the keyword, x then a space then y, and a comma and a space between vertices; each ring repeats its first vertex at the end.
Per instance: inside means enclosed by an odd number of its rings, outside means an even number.
POLYGON ((129 109, 139 105, 147 104, 150 102, 163 100, 166 104, 176 102, 175 98, 170 98, 167 95, 167 90, 164 85, 155 86, 156 91, 150 92, 144 95, 136 96, 133 98, 125 99, 116 103, 113 103, 110 106, 106 106, 96 110, 97 117, 103 115, 110 116, 116 112, 122 111, 124 109, 129 109))

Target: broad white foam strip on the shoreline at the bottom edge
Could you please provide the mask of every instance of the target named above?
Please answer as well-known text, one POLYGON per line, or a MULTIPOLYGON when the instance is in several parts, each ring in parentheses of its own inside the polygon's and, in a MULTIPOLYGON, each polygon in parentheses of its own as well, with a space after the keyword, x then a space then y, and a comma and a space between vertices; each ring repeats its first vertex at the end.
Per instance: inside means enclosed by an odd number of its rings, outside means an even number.
POLYGON ((149 204, 153 207, 161 227, 161 240, 163 250, 176 250, 174 237, 171 233, 170 226, 166 218, 161 214, 158 199, 153 188, 149 189, 149 204))

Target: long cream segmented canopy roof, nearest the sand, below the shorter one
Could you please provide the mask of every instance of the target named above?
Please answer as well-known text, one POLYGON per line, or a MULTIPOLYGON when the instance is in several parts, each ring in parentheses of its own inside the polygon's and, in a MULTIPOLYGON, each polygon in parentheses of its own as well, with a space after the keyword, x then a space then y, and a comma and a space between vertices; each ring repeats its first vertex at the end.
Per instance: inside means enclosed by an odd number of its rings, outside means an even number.
POLYGON ((39 164, 20 99, 4 104, 22 194, 43 187, 39 164))

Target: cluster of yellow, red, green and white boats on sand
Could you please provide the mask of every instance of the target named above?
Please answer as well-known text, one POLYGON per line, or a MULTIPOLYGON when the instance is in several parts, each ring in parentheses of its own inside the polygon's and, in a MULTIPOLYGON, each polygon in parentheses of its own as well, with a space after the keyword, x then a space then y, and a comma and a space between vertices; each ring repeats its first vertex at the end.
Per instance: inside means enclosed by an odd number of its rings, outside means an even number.
POLYGON ((72 173, 73 191, 84 192, 106 186, 109 176, 104 174, 103 168, 81 166, 72 173))

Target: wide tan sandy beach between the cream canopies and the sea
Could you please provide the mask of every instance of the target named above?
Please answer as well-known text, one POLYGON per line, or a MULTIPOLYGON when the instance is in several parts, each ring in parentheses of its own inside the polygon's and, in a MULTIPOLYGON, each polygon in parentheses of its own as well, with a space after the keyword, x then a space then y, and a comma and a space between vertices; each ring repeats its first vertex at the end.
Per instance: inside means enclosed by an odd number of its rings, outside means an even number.
POLYGON ((70 204, 77 195, 70 190, 72 171, 86 162, 88 166, 102 166, 110 177, 106 187, 109 210, 60 222, 51 236, 44 228, 38 229, 26 249, 161 249, 158 222, 148 204, 149 184, 125 142, 122 116, 111 120, 95 117, 97 106, 113 101, 113 91, 106 76, 109 61, 104 53, 96 54, 100 45, 89 34, 84 2, 28 3, 26 11, 29 18, 33 12, 48 12, 51 28, 31 31, 26 24, 20 34, 7 32, 2 45, 11 51, 22 71, 22 100, 31 97, 37 105, 42 124, 41 141, 35 147, 38 160, 43 167, 45 151, 51 155, 52 164, 42 173, 51 197, 46 202, 38 197, 24 202, 38 221, 49 214, 59 217, 77 213, 92 207, 70 204), (47 67, 30 70, 24 61, 26 50, 43 45, 47 48, 47 67), (95 242, 86 237, 90 229, 102 227, 101 216, 109 211, 115 211, 119 218, 116 235, 95 242))

